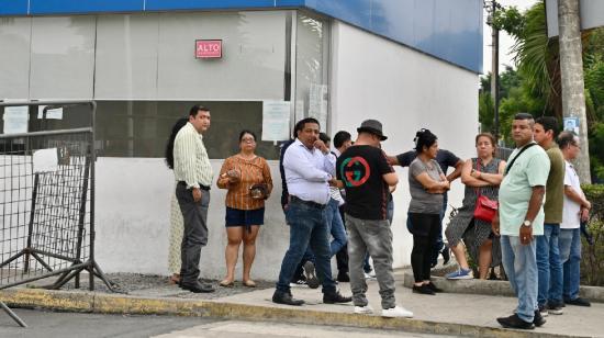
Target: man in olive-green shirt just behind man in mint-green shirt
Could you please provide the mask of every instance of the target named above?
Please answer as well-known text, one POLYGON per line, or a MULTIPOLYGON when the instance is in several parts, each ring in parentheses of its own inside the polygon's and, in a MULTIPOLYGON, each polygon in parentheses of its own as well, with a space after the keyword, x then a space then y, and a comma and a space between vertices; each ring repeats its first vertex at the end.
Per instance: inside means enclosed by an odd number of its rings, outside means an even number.
POLYGON ((562 151, 555 142, 558 131, 558 120, 553 116, 541 116, 535 121, 535 140, 546 150, 551 164, 544 204, 544 236, 537 237, 537 270, 539 271, 537 303, 541 316, 562 314, 563 274, 558 237, 560 223, 562 223, 566 167, 562 151))

